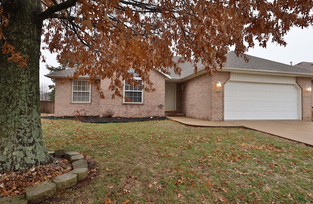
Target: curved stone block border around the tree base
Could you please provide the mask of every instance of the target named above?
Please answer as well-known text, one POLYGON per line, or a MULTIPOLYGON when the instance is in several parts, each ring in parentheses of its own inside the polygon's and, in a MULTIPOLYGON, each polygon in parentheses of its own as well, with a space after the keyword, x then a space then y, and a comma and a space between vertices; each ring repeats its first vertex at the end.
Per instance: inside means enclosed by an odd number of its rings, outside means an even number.
POLYGON ((70 161, 72 171, 26 188, 26 195, 0 198, 0 204, 38 204, 52 197, 57 190, 67 189, 88 177, 88 163, 83 155, 69 149, 49 152, 52 157, 70 161))

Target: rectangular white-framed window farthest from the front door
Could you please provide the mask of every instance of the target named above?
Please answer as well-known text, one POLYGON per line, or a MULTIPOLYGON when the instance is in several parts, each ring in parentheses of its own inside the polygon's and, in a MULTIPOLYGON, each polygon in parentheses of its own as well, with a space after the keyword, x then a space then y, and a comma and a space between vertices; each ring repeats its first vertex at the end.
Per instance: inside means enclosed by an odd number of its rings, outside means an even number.
POLYGON ((90 103, 90 85, 88 81, 73 81, 73 103, 90 103))

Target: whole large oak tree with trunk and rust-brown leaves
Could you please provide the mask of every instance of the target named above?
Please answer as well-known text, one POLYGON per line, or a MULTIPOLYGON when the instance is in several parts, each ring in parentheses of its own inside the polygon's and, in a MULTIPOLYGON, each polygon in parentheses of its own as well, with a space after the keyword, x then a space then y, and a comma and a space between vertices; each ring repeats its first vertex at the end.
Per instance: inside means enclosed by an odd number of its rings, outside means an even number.
POLYGON ((48 157, 21 159, 25 146, 31 155, 38 152, 34 145, 42 145, 38 154, 46 154, 36 96, 41 37, 59 61, 81 64, 77 75, 109 78, 109 89, 120 96, 123 80, 132 81, 129 68, 147 89, 153 88, 151 69, 166 73, 173 67, 179 73, 173 55, 195 62, 195 71, 201 59, 212 74, 223 67, 230 46, 241 55, 255 43, 286 45, 292 26, 312 26, 312 11, 313 0, 0 0, 0 170, 47 162, 48 157), (14 99, 10 91, 26 98, 14 99), (26 123, 27 114, 39 119, 26 123))

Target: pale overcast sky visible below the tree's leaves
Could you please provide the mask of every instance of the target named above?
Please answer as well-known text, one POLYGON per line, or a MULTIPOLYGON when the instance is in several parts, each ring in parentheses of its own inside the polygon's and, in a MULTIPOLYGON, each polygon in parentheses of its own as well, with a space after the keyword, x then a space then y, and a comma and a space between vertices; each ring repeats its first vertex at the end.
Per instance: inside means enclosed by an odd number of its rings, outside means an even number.
MULTIPOLYGON (((255 46, 246 54, 287 65, 290 65, 290 62, 292 65, 300 62, 313 62, 313 28, 292 28, 285 36, 285 40, 288 43, 286 47, 276 44, 268 44, 267 48, 255 46)), ((58 67, 59 64, 55 59, 55 54, 48 51, 42 51, 42 54, 46 56, 46 63, 40 64, 40 83, 50 85, 51 79, 44 76, 49 73, 45 64, 53 67, 58 67)))

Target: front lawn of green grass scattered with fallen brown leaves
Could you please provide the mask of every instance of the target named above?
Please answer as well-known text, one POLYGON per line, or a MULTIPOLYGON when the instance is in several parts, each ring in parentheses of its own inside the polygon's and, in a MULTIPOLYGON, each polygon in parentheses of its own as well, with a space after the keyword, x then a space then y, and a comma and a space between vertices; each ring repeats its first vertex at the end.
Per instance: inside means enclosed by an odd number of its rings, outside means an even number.
MULTIPOLYGON (((311 204, 313 147, 241 128, 43 119, 49 150, 98 162, 62 204, 311 204)), ((49 204, 49 202, 44 202, 49 204)))

